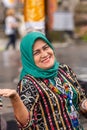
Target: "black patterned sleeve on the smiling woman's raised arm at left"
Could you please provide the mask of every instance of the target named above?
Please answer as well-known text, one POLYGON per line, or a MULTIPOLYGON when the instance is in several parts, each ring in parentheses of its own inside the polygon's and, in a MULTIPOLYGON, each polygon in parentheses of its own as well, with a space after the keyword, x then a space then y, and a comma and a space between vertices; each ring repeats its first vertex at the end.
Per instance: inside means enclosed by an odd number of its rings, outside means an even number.
POLYGON ((35 88, 34 83, 26 78, 24 78, 19 83, 17 92, 19 93, 19 96, 21 97, 21 100, 23 101, 27 110, 29 111, 29 117, 25 125, 21 125, 21 123, 17 119, 16 120, 21 130, 27 130, 34 122, 33 110, 35 105, 38 103, 39 93, 35 88))

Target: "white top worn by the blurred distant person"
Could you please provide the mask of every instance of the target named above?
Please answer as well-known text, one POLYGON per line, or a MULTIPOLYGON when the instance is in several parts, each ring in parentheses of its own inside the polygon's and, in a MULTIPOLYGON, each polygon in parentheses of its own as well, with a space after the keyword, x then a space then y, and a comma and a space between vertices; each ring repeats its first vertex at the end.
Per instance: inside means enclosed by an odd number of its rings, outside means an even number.
POLYGON ((12 28, 13 24, 16 24, 16 19, 13 16, 7 16, 5 19, 5 34, 6 35, 11 35, 14 34, 15 29, 12 28))

